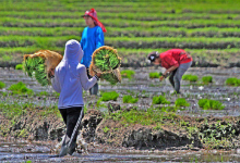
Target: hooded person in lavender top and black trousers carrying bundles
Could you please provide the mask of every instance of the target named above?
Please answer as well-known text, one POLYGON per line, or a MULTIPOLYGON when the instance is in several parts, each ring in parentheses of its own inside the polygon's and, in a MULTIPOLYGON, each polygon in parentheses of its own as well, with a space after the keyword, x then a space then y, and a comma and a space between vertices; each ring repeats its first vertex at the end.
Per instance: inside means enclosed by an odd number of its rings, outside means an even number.
POLYGON ((65 43, 62 61, 50 73, 52 87, 57 92, 60 92, 58 109, 67 125, 67 134, 63 139, 60 156, 67 153, 72 154, 75 151, 77 127, 83 117, 84 102, 82 89, 87 90, 92 88, 100 77, 98 73, 88 79, 86 67, 80 64, 82 58, 83 50, 79 41, 71 39, 65 43))

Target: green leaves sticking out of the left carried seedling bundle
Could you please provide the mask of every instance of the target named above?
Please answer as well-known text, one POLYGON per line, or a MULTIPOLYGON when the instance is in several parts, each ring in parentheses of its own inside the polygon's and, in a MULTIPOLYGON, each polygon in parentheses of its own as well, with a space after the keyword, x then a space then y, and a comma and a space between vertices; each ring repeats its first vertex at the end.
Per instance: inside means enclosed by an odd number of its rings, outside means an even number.
POLYGON ((24 72, 29 77, 35 77, 41 86, 49 85, 47 73, 45 72, 45 60, 41 58, 27 58, 24 62, 24 72))

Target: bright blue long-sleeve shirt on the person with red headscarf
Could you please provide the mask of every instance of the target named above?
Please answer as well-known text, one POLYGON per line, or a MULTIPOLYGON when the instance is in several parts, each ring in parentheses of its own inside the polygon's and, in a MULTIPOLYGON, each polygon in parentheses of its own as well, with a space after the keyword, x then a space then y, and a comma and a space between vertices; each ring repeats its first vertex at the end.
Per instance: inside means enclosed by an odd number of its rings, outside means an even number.
POLYGON ((103 29, 99 26, 95 26, 93 28, 85 27, 80 43, 84 51, 81 64, 84 64, 88 68, 91 65, 93 52, 97 48, 104 46, 103 29))

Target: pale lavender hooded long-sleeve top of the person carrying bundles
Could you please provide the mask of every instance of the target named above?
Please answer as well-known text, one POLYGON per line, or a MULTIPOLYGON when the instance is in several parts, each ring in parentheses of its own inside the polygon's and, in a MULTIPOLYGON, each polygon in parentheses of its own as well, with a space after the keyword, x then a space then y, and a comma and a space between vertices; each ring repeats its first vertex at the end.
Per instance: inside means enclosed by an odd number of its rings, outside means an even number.
POLYGON ((80 64, 82 57, 80 43, 76 40, 68 41, 64 57, 56 67, 55 77, 51 79, 52 88, 60 92, 59 109, 83 106, 83 89, 87 90, 97 83, 96 76, 88 79, 86 67, 80 64))

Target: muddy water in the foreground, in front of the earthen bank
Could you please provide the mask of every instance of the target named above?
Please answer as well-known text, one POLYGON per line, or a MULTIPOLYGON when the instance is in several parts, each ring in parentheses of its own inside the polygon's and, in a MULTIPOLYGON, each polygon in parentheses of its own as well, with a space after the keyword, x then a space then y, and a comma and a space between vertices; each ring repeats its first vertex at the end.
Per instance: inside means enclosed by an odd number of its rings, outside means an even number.
POLYGON ((240 150, 232 151, 131 151, 115 150, 59 158, 49 145, 0 140, 0 162, 239 162, 240 150))

